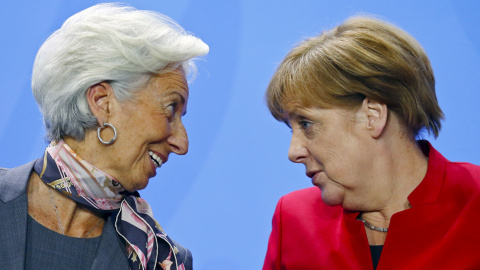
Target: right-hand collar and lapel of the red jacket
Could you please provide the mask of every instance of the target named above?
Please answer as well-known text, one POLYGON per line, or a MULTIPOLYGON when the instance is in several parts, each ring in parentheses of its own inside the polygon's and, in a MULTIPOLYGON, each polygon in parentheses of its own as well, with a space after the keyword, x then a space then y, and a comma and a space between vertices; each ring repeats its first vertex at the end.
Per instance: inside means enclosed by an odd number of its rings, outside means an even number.
POLYGON ((446 215, 449 207, 439 203, 447 159, 429 142, 420 141, 419 144, 428 156, 427 173, 408 196, 412 208, 392 216, 377 270, 392 269, 392 265, 398 267, 395 269, 411 269, 411 266, 402 264, 420 263, 418 254, 433 252, 435 246, 439 246, 437 241, 443 239, 451 229, 446 215))

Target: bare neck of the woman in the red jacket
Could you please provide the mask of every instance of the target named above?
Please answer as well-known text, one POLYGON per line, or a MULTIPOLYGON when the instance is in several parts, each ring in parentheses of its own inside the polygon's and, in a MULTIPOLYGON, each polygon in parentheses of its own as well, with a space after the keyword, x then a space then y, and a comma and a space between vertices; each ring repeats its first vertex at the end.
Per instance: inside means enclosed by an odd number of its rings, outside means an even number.
MULTIPOLYGON (((374 194, 365 198, 360 211, 370 224, 388 228, 391 217, 411 208, 408 196, 427 173, 428 158, 413 135, 406 135, 400 124, 389 125, 381 138, 372 143, 370 175, 378 183, 374 194)), ((371 245, 383 245, 387 233, 365 228, 371 245)))

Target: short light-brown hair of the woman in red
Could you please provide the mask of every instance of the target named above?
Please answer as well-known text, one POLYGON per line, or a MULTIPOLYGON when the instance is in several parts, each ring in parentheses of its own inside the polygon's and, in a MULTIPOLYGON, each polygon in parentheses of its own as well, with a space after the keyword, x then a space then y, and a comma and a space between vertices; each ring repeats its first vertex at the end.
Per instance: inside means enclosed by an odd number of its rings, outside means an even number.
POLYGON ((290 106, 355 108, 366 97, 386 104, 414 136, 423 128, 438 136, 444 116, 426 53, 379 19, 352 17, 301 42, 266 91, 270 112, 284 122, 290 106))

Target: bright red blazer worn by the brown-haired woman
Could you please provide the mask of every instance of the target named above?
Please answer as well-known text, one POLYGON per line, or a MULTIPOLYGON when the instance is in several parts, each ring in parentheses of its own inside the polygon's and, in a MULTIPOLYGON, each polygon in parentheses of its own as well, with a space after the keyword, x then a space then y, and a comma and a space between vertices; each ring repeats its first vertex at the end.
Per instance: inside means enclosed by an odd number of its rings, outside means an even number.
MULTIPOLYGON (((427 174, 392 216, 377 270, 480 269, 480 167, 423 148, 427 174)), ((263 269, 373 269, 358 214, 325 205, 317 187, 282 197, 263 269)))

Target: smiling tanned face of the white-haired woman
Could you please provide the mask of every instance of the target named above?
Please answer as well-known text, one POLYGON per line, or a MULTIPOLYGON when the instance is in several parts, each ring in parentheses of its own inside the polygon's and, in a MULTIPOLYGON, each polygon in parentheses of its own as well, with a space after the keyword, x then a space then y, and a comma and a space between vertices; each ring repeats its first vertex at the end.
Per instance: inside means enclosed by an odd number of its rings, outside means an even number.
POLYGON ((110 164, 106 172, 129 191, 145 188, 170 153, 184 155, 188 151, 181 119, 188 101, 183 70, 152 77, 144 89, 134 94, 134 99, 117 103, 120 105, 108 119, 118 137, 108 146, 110 164))

